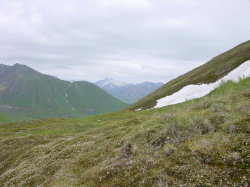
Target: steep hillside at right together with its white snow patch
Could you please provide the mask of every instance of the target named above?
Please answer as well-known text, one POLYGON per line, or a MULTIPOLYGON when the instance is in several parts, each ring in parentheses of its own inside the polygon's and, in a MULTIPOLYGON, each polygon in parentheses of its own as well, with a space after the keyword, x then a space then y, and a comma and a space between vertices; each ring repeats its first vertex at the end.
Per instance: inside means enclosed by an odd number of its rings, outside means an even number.
POLYGON ((164 84, 128 109, 136 111, 151 109, 204 96, 223 80, 235 80, 242 75, 250 76, 249 60, 250 41, 246 41, 164 84))

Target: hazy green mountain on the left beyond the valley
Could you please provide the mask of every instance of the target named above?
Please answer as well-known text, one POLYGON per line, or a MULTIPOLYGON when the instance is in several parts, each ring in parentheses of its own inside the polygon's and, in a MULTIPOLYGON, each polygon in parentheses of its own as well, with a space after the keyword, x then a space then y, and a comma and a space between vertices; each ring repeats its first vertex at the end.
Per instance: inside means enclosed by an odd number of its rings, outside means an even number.
POLYGON ((125 106, 89 82, 70 83, 20 64, 0 65, 0 122, 83 117, 125 106))

